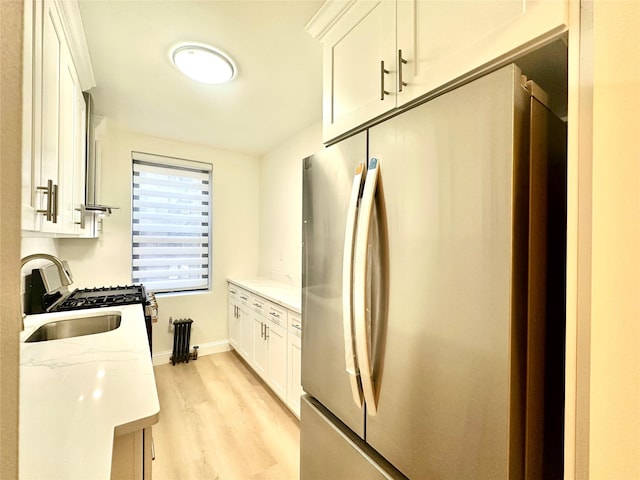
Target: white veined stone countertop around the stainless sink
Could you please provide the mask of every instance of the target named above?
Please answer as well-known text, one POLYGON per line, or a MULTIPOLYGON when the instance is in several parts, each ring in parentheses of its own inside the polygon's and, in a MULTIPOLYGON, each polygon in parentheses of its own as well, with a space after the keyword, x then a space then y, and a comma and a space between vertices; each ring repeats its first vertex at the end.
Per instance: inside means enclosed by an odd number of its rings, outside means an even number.
POLYGON ((20 342, 20 479, 109 479, 114 433, 160 413, 142 306, 31 315, 20 342), (43 323, 118 312, 110 332, 24 343, 43 323))

